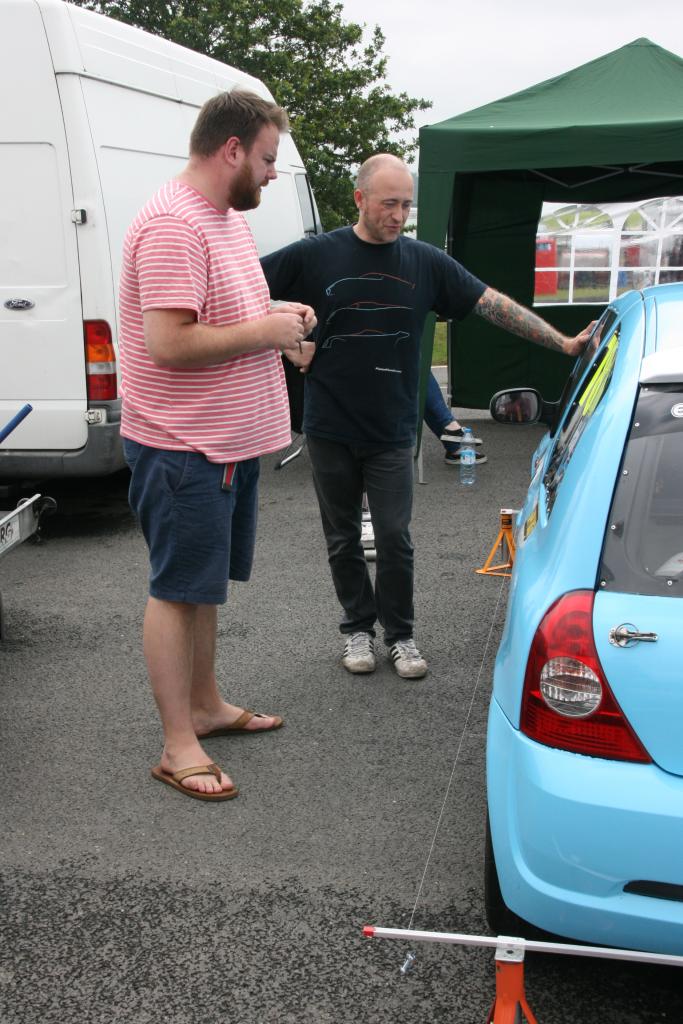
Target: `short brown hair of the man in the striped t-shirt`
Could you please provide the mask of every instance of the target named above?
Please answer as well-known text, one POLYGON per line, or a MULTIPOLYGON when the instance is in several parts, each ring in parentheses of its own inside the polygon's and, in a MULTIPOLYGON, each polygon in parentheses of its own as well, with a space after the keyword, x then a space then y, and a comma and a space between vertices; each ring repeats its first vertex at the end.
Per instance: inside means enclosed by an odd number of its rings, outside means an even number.
POLYGON ((189 136, 190 156, 211 157, 232 136, 249 150, 268 124, 287 131, 289 119, 282 106, 247 89, 219 92, 207 99, 199 113, 189 136))

